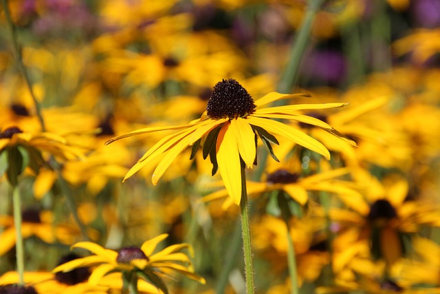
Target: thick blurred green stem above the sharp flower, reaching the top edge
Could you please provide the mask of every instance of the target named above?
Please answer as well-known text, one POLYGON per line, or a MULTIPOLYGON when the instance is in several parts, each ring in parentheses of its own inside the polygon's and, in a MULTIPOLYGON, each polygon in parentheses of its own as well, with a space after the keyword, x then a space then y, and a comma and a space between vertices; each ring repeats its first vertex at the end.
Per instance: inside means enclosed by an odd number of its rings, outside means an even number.
POLYGON ((309 0, 309 6, 305 12, 303 23, 295 36, 293 45, 290 46, 289 61, 278 83, 278 92, 288 93, 296 84, 300 63, 309 42, 311 24, 315 19, 316 12, 318 12, 324 1, 325 0, 309 0))

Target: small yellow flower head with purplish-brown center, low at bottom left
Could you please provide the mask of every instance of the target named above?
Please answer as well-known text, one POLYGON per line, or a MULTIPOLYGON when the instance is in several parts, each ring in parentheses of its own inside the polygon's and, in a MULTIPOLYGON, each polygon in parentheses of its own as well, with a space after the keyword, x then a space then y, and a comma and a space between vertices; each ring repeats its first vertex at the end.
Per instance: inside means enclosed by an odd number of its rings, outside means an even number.
POLYGON ((168 235, 162 234, 148 240, 142 246, 123 247, 119 251, 105 249, 93 242, 78 242, 72 246, 72 249, 82 248, 94 253, 85 258, 79 258, 56 266, 53 273, 72 271, 72 269, 84 266, 96 266, 93 269, 89 283, 99 285, 102 279, 111 273, 122 273, 122 279, 109 281, 104 279, 107 286, 118 286, 124 280, 124 284, 138 284, 138 280, 143 280, 154 284, 164 293, 167 293, 166 284, 163 277, 173 273, 181 273, 192 280, 205 283, 203 277, 194 273, 190 258, 182 249, 188 249, 191 254, 192 246, 190 244, 175 244, 154 253, 157 244, 162 242, 168 235))

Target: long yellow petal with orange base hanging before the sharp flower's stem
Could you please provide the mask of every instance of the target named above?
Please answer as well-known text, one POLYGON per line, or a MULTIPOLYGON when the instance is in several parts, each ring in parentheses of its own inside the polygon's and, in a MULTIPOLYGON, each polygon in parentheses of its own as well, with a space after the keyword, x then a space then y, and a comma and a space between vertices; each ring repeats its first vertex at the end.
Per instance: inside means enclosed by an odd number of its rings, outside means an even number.
POLYGON ((236 205, 239 205, 241 200, 240 155, 235 136, 230 131, 229 126, 229 123, 225 123, 217 137, 217 163, 220 176, 225 183, 229 196, 236 205))

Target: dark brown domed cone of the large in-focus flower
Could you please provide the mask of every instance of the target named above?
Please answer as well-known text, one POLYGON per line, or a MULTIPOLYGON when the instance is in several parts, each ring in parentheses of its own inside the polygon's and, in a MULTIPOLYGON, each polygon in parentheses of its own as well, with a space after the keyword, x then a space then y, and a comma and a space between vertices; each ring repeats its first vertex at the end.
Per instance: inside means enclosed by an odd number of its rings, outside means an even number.
POLYGON ((233 78, 217 83, 206 111, 212 119, 247 116, 256 107, 248 91, 233 78))

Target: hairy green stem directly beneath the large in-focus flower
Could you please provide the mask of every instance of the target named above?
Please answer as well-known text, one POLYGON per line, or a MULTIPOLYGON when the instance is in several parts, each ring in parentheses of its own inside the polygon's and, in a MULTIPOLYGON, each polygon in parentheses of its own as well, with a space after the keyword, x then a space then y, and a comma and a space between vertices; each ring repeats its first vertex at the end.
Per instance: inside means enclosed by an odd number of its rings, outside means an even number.
POLYGON ((248 294, 254 293, 254 266, 252 265, 252 244, 250 240, 250 217, 248 192, 246 191, 246 172, 241 169, 241 231, 243 232, 243 251, 245 255, 246 289, 248 294))

